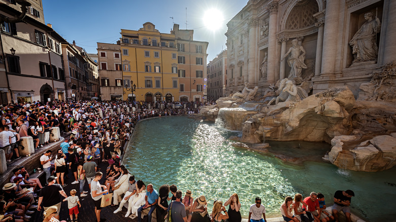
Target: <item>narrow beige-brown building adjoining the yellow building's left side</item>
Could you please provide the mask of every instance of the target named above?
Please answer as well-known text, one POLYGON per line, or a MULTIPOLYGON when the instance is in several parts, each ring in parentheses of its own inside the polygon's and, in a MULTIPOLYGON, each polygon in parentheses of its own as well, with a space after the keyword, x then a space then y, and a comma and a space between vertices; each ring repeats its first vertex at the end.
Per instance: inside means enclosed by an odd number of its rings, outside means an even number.
POLYGON ((123 87, 120 43, 97 43, 97 56, 101 99, 122 99, 123 87))

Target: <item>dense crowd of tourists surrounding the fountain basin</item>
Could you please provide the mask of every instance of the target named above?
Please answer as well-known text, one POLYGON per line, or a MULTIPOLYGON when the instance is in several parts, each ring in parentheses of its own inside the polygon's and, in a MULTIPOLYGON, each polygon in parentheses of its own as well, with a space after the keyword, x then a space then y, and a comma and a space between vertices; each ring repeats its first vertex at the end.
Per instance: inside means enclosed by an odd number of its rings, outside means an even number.
MULTIPOLYGON (((56 222, 60 219, 62 202, 67 202, 70 221, 78 221, 80 198, 88 196, 88 193, 95 206, 98 222, 106 220, 101 218, 102 197, 109 193, 112 193, 111 206, 115 207, 114 213, 119 213, 125 205, 125 217, 137 216, 138 222, 141 222, 142 211, 145 209, 149 209, 146 212, 147 222, 151 222, 154 211, 158 222, 168 221, 170 217, 174 222, 219 222, 225 219, 228 222, 241 222, 238 194, 231 195, 224 202, 215 201, 209 214, 205 196, 193 198, 189 190, 183 196, 174 184, 164 184, 157 192, 151 183, 146 185, 144 178, 137 180, 120 163, 124 145, 139 120, 179 115, 188 109, 193 112, 195 104, 196 102, 186 103, 186 109, 173 108, 172 103, 162 103, 161 109, 156 108, 161 107, 159 102, 106 101, 35 102, 0 106, 3 118, 0 146, 7 150, 8 160, 20 158, 20 137, 31 136, 35 141, 35 149, 42 149, 48 144, 48 134, 54 127, 59 127, 61 132, 71 132, 70 138, 60 143, 56 154, 45 150, 40 157, 47 184, 42 184, 38 178, 30 178, 23 166, 13 169, 13 176, 4 185, 0 196, 0 222, 28 221, 29 215, 36 210, 44 211, 43 221, 56 222), (15 135, 15 140, 12 135, 15 135), (107 167, 105 175, 98 169, 100 164, 107 167), (64 182, 67 175, 74 180, 72 184, 64 182), (88 183, 89 190, 84 190, 85 183, 88 183), (63 191, 64 187, 75 184, 71 188, 76 189, 72 189, 69 194, 63 191), (171 204, 168 204, 169 201, 171 204)), ((339 211, 343 211, 350 221, 349 204, 352 196, 354 194, 350 190, 336 192, 332 212, 334 216, 326 211, 324 196, 314 192, 304 200, 300 194, 296 194, 294 199, 286 197, 280 211, 286 221, 338 221, 339 211)), ((265 222, 265 213, 266 209, 257 197, 249 210, 250 222, 265 222)))

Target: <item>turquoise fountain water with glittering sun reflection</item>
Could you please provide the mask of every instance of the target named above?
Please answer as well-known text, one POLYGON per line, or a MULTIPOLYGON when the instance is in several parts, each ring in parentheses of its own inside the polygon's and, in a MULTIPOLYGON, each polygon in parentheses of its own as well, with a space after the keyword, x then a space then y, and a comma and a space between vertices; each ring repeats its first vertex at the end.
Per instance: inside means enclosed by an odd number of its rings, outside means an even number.
MULTIPOLYGON (((267 214, 280 214, 284 196, 321 192, 327 206, 332 206, 336 190, 350 189, 356 195, 351 204, 355 214, 368 221, 394 220, 396 169, 365 173, 340 170, 325 162, 285 164, 272 155, 233 147, 228 138, 238 134, 187 117, 145 120, 138 124, 123 164, 156 190, 168 183, 183 193, 191 190, 194 198, 205 195, 209 211, 215 200, 225 202, 233 193, 239 195, 241 213, 247 216, 256 196, 261 197, 267 214)), ((304 142, 270 144, 271 150, 279 147, 279 152, 299 158, 304 153, 324 155, 329 147, 304 142), (299 143, 304 146, 301 151, 296 148, 299 143)))

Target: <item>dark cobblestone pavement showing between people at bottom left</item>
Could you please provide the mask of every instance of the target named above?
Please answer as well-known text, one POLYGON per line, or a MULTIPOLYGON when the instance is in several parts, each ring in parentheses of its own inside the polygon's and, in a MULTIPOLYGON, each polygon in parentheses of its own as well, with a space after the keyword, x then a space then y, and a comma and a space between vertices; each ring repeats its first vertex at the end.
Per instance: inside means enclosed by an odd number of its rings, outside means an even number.
MULTIPOLYGON (((103 163, 101 162, 98 165, 98 168, 100 168, 100 171, 104 173, 104 175, 106 175, 106 167, 108 166, 107 163, 103 163)), ((70 191, 72 189, 75 189, 77 191, 77 194, 80 198, 80 192, 79 192, 79 186, 80 184, 72 184, 72 182, 74 181, 74 175, 69 172, 68 175, 69 178, 65 178, 64 182, 68 184, 68 186, 64 187, 63 190, 64 192, 66 192, 66 194, 68 196, 70 196, 70 191)), ((100 180, 101 184, 105 183, 105 177, 103 177, 102 180, 100 180)), ((84 185, 84 191, 89 191, 89 187, 88 187, 88 183, 87 181, 85 181, 85 185, 84 185)), ((61 198, 63 199, 63 197, 61 198)), ((95 206, 93 204, 93 200, 91 198, 90 195, 90 191, 87 194, 86 197, 82 197, 80 198, 80 203, 81 203, 81 208, 79 208, 79 214, 78 214, 78 221, 79 222, 94 222, 96 221, 96 216, 95 216, 95 206)), ((117 207, 112 207, 112 206, 107 206, 105 208, 102 209, 101 212, 101 218, 105 218, 106 221, 109 222, 115 222, 115 221, 134 221, 137 222, 138 219, 134 218, 134 219, 130 219, 130 218, 125 218, 124 215, 126 213, 126 208, 123 207, 121 212, 118 212, 116 214, 113 213, 114 210, 116 210, 117 207)), ((66 221, 70 221, 70 216, 69 216, 69 209, 68 209, 68 203, 67 201, 62 202, 62 206, 60 209, 60 220, 66 220, 66 221)), ((34 221, 34 222, 42 222, 43 221, 43 210, 41 212, 36 212, 35 214, 32 214, 32 218, 30 219, 30 221, 34 221)))

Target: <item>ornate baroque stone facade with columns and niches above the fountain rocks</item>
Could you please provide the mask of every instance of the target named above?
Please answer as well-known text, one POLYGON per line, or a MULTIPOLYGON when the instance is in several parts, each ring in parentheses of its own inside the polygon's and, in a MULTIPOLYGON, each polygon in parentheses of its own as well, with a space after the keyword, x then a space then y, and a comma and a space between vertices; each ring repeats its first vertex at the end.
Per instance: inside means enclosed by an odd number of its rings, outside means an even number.
POLYGON ((300 77, 313 93, 347 85, 357 97, 395 58, 395 15, 391 0, 250 0, 227 23, 226 94, 300 77))

